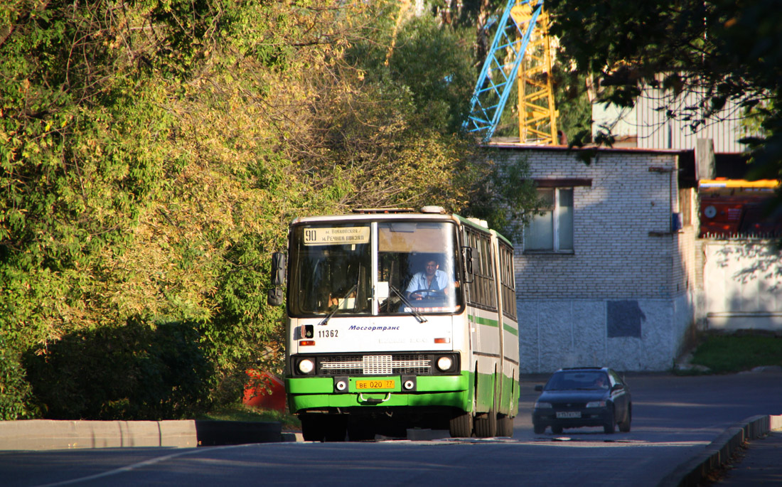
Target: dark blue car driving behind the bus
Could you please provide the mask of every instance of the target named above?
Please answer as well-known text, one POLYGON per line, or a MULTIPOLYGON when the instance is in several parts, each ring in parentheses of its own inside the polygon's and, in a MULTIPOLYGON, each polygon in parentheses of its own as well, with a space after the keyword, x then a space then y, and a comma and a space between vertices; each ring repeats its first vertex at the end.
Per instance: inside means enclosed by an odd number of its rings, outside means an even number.
POLYGON ((551 427, 558 435, 563 428, 602 426, 606 434, 630 431, 633 399, 630 388, 615 371, 605 367, 560 369, 551 375, 533 410, 537 435, 551 427))

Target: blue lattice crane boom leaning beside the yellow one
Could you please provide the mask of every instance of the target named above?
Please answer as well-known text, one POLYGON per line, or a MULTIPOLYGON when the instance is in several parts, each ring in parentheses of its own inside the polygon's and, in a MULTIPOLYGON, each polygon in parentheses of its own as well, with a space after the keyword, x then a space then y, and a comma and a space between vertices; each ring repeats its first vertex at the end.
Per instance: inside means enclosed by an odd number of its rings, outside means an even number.
POLYGON ((508 0, 497 23, 464 124, 466 131, 475 132, 484 141, 488 141, 497 129, 542 9, 543 0, 508 0), (526 13, 521 14, 524 10, 526 13))

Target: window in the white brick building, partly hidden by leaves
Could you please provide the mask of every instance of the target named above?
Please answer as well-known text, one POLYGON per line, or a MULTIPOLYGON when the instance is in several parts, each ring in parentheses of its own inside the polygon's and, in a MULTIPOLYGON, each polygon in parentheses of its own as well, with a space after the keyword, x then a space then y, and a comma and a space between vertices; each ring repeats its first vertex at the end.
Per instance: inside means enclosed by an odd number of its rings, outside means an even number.
POLYGON ((573 189, 538 188, 545 205, 524 229, 524 250, 572 252, 573 189))

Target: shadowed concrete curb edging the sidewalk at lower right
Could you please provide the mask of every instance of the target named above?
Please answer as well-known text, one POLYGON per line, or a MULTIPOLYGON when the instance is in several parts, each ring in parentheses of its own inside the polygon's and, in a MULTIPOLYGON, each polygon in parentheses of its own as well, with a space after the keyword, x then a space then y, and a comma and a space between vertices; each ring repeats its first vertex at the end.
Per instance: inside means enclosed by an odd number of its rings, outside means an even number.
POLYGON ((744 442, 782 429, 782 416, 753 416, 727 428, 722 435, 709 443, 697 457, 680 464, 660 481, 658 487, 697 486, 708 474, 730 461, 744 442))

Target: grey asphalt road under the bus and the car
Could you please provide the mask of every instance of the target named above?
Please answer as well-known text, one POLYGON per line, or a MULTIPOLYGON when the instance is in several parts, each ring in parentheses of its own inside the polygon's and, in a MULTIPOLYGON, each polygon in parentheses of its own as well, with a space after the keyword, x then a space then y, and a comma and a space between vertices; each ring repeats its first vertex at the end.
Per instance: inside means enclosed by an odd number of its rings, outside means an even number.
POLYGON ((633 428, 535 435, 539 381, 525 378, 513 439, 264 443, 199 449, 0 453, 0 484, 30 485, 657 485, 726 428, 782 414, 782 374, 628 374, 633 428))

